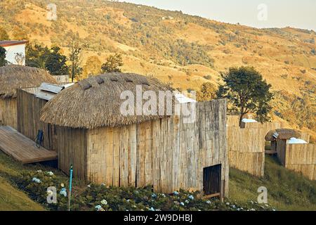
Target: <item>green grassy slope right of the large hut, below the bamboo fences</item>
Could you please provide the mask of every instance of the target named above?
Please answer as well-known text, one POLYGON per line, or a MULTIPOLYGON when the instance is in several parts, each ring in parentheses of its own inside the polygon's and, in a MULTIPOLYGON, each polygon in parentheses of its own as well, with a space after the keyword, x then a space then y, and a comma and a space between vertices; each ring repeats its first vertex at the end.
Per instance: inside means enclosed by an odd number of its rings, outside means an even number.
POLYGON ((265 176, 262 178, 230 169, 232 200, 257 201, 260 186, 268 189, 268 203, 277 210, 316 210, 316 181, 285 169, 275 156, 265 157, 265 176))

